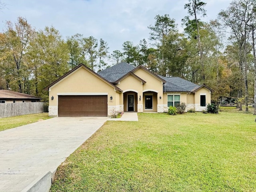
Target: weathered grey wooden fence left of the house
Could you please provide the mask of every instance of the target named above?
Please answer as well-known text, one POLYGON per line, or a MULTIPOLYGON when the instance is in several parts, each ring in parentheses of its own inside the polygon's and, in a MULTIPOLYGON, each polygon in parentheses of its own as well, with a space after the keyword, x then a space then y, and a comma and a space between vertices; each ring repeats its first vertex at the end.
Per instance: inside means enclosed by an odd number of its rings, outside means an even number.
POLYGON ((0 118, 44 112, 44 102, 0 103, 0 118))

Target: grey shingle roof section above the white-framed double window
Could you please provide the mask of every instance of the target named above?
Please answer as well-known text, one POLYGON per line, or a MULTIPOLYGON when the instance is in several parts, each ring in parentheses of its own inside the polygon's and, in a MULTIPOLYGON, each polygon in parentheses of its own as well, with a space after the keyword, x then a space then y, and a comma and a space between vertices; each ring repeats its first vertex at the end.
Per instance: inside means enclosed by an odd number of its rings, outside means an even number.
MULTIPOLYGON (((159 75, 160 76, 160 75, 159 75)), ((200 86, 194 84, 190 81, 184 80, 179 77, 163 77, 160 76, 162 79, 166 80, 166 84, 164 84, 164 91, 168 92, 192 92, 193 90, 199 88, 200 86)))

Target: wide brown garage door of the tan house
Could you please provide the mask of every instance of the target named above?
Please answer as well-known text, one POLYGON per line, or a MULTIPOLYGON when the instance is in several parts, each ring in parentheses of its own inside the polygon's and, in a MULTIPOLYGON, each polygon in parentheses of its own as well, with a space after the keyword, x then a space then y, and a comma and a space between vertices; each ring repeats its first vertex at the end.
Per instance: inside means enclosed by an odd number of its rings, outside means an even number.
POLYGON ((106 95, 60 95, 59 117, 105 117, 108 116, 106 95))

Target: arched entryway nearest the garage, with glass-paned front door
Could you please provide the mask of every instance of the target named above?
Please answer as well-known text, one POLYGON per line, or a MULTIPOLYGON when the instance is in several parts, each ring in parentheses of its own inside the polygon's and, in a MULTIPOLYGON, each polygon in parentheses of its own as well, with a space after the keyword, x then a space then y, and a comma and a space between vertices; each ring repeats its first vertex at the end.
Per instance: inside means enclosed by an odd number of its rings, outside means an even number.
POLYGON ((124 111, 137 112, 138 93, 135 91, 123 92, 124 96, 124 111))

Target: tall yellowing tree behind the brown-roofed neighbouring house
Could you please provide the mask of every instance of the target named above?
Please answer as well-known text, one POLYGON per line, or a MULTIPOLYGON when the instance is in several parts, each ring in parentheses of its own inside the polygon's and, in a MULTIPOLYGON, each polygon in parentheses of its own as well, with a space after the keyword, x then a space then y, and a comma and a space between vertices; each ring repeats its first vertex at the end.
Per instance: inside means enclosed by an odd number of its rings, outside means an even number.
POLYGON ((13 90, 23 92, 24 87, 22 88, 22 81, 25 76, 28 77, 24 57, 34 29, 28 24, 26 18, 22 17, 18 17, 17 22, 14 24, 7 21, 6 28, 6 32, 2 35, 5 38, 4 46, 2 47, 5 59, 2 60, 2 64, 6 66, 5 68, 7 70, 7 88, 9 88, 8 82, 12 81, 13 90))

